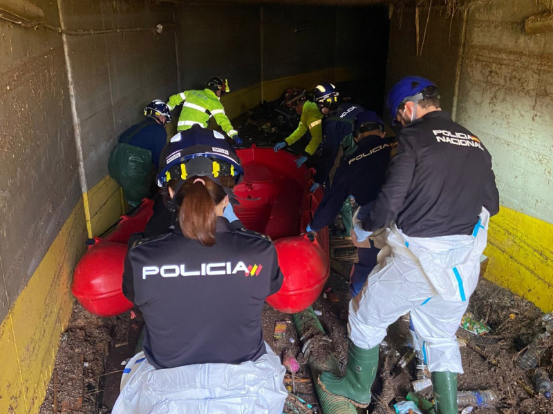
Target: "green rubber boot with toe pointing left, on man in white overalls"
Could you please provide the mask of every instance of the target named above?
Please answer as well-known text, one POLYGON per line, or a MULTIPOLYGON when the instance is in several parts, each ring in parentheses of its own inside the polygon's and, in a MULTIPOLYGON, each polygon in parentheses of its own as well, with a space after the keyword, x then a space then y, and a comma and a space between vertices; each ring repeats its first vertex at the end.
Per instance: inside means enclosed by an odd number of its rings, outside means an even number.
POLYGON ((371 386, 378 366, 378 346, 359 348, 348 344, 348 368, 344 377, 329 372, 319 375, 319 384, 328 392, 346 397, 359 407, 371 402, 371 386))

